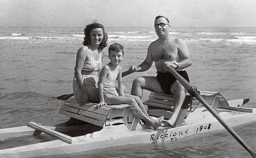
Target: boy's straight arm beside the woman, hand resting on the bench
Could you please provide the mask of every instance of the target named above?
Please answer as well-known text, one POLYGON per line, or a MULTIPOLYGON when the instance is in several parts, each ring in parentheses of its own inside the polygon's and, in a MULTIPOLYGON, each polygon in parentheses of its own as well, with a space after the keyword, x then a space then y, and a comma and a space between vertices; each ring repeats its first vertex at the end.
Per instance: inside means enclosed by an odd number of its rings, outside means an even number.
POLYGON ((103 85, 104 85, 105 79, 107 77, 107 74, 108 74, 108 68, 106 66, 104 66, 99 73, 99 84, 98 84, 99 104, 98 104, 98 108, 101 107, 102 105, 107 105, 105 103, 104 96, 103 96, 103 85))

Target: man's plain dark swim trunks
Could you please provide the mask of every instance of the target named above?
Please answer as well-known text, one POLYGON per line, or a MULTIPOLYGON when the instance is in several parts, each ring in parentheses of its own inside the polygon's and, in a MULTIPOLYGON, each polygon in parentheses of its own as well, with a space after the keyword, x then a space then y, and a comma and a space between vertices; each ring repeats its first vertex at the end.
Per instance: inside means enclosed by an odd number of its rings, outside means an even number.
MULTIPOLYGON (((189 76, 186 71, 177 71, 177 73, 189 82, 189 76)), ((171 86, 176 80, 177 79, 172 75, 172 73, 157 72, 157 81, 160 83, 164 93, 166 94, 172 94, 171 86)))

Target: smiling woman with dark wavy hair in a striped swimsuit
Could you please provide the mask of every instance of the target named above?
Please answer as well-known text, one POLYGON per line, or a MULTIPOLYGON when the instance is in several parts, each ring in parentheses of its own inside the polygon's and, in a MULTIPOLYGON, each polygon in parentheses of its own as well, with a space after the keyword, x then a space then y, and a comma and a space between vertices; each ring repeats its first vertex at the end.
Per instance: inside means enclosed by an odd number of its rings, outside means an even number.
POLYGON ((73 92, 80 106, 86 102, 99 102, 98 73, 102 68, 104 48, 108 35, 103 25, 92 23, 84 28, 84 42, 76 54, 73 92))

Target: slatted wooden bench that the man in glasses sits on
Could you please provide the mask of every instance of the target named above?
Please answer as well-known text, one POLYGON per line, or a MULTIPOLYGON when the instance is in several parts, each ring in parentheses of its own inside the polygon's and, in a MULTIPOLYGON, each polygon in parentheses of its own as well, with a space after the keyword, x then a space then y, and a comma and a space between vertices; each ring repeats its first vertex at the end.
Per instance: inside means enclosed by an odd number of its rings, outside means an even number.
MULTIPOLYGON (((200 91, 200 94, 217 113, 219 113, 217 110, 218 107, 228 107, 227 100, 219 92, 200 91)), ((148 106, 148 115, 156 117, 164 116, 165 119, 169 119, 173 113, 174 96, 151 93, 149 99, 143 102, 143 104, 148 106)), ((195 97, 186 93, 174 127, 181 126, 189 113, 201 106, 203 105, 195 97)))

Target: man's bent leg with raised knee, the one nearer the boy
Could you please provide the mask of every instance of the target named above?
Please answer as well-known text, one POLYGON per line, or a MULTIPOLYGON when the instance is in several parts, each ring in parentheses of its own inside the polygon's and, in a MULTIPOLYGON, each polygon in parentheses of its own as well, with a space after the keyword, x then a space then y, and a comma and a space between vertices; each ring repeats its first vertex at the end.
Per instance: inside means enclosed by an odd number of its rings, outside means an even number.
POLYGON ((131 95, 142 98, 143 89, 154 93, 164 93, 159 82, 157 81, 157 77, 154 76, 142 76, 134 79, 131 88, 131 95))

